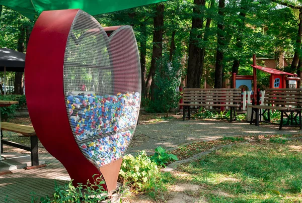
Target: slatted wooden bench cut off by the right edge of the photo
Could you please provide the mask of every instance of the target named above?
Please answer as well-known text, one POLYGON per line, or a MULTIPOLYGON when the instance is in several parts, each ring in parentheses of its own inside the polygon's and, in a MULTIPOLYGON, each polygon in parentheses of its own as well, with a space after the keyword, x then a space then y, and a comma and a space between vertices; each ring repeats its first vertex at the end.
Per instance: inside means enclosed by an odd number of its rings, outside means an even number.
MULTIPOLYGON (((267 89, 264 96, 264 106, 256 105, 252 106, 252 114, 250 124, 253 123, 253 116, 255 114, 255 125, 259 126, 259 123, 271 123, 270 110, 278 110, 281 112, 281 119, 279 124, 279 130, 282 127, 298 126, 302 129, 301 123, 301 105, 302 105, 302 93, 300 88, 283 88, 283 89, 267 89), (264 111, 262 111, 264 110, 264 111), (267 117, 263 117, 267 113, 267 117), (284 116, 287 118, 285 124, 283 124, 284 116), (262 120, 262 117, 264 120, 262 120)), ((278 124, 277 124, 278 125, 278 124)))

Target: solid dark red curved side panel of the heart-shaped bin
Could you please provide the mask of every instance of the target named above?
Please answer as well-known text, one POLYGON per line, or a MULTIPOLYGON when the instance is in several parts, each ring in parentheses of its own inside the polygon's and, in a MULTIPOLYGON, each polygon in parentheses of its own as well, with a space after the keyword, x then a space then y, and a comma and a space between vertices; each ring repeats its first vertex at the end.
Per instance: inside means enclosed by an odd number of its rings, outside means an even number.
POLYGON ((66 114, 64 53, 78 12, 43 12, 31 33, 25 65, 26 99, 33 127, 45 149, 64 165, 74 184, 86 183, 88 178, 92 182, 94 174, 101 175, 80 151, 66 114))

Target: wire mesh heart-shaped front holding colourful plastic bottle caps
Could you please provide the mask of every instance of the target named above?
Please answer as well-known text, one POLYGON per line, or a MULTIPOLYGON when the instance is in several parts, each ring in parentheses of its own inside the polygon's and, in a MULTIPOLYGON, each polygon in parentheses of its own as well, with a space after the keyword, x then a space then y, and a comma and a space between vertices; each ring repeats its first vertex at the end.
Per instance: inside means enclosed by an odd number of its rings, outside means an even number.
POLYGON ((122 157, 132 139, 140 106, 139 67, 130 26, 108 37, 92 16, 79 11, 66 44, 64 95, 74 139, 97 167, 122 157))

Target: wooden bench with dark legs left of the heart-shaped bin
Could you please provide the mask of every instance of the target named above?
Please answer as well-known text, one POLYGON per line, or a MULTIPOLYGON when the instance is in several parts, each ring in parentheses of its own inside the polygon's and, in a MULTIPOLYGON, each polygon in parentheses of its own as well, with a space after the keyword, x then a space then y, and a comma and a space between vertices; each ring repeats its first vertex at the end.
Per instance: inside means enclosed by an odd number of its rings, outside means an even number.
POLYGON ((3 144, 17 147, 26 151, 31 152, 31 166, 26 169, 43 167, 45 165, 39 165, 39 155, 38 155, 38 137, 32 126, 24 126, 14 123, 1 122, 1 153, 3 153, 3 144), (16 142, 7 141, 3 139, 3 131, 11 131, 15 133, 20 133, 22 136, 30 137, 30 147, 25 146, 16 142))

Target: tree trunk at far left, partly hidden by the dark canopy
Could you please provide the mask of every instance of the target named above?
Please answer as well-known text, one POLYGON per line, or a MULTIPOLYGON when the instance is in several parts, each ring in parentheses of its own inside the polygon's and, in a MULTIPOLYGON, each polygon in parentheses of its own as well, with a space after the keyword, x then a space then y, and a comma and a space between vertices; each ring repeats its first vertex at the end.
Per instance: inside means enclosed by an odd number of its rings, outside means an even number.
MULTIPOLYGON (((23 25, 21 25, 20 34, 18 37, 17 50, 22 53, 25 50, 25 43, 24 43, 25 36, 26 36, 26 28, 23 25)), ((14 93, 23 94, 23 72, 15 72, 14 93)))

